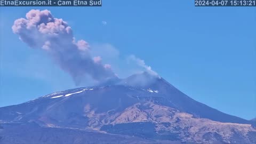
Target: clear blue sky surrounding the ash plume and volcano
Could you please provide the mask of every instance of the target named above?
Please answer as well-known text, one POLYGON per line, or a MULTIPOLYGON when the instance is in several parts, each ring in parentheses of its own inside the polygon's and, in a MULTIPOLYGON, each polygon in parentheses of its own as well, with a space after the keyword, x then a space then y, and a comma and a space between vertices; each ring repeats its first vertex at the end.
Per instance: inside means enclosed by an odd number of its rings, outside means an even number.
MULTIPOLYGON (((189 97, 245 119, 256 117, 256 9, 183 1, 103 1, 102 7, 1 7, 0 107, 76 87, 45 53, 12 33, 31 9, 67 21, 76 39, 134 54, 189 97), (106 25, 102 25, 106 21, 106 25)), ((127 76, 125 66, 116 70, 127 76)))

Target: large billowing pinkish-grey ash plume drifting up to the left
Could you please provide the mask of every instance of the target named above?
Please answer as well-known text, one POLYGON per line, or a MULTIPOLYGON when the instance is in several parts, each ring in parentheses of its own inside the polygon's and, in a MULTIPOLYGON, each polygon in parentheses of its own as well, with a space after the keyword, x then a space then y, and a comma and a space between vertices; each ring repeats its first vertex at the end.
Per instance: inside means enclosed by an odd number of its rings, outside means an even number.
POLYGON ((116 77, 109 64, 102 64, 101 57, 91 57, 86 41, 75 41, 67 22, 54 18, 48 10, 30 10, 26 19, 14 21, 12 30, 29 47, 48 53, 76 84, 88 76, 98 82, 116 77))

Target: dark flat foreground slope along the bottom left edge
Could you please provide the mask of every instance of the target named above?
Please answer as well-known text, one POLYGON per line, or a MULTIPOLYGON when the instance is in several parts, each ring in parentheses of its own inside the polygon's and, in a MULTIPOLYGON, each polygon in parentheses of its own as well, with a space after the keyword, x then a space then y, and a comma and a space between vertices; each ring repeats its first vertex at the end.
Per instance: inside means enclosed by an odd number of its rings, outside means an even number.
POLYGON ((39 127, 35 124, 4 124, 0 131, 0 143, 170 143, 118 134, 107 134, 79 129, 39 127))

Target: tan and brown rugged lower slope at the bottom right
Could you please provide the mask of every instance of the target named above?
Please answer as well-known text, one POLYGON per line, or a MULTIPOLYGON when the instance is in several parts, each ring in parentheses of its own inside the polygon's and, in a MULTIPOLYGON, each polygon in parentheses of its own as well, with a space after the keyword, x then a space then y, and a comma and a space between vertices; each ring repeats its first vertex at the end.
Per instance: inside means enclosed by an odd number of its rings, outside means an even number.
POLYGON ((154 139, 193 141, 196 143, 235 143, 238 140, 235 139, 234 134, 237 134, 239 141, 243 143, 256 142, 254 137, 256 129, 250 124, 221 123, 205 118, 195 118, 193 115, 181 113, 170 107, 156 105, 153 102, 136 103, 126 108, 113 122, 102 126, 101 130, 129 135, 129 127, 131 126, 142 127, 144 131, 135 131, 141 137, 154 139), (127 127, 126 133, 124 133, 124 127, 127 127))

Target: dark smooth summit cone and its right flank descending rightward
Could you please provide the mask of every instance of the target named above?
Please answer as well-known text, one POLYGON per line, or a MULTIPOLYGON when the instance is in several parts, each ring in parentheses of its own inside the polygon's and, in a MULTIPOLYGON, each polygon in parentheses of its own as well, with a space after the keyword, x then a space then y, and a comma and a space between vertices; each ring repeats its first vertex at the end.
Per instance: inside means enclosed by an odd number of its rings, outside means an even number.
POLYGON ((191 99, 186 94, 179 91, 169 82, 165 81, 165 79, 163 79, 162 77, 152 76, 146 72, 142 74, 132 75, 126 79, 123 79, 122 82, 119 82, 119 84, 126 84, 132 86, 135 85, 145 90, 158 90, 159 93, 161 93, 162 97, 170 101, 169 105, 166 106, 171 106, 180 111, 184 111, 198 117, 209 118, 213 121, 219 122, 251 124, 251 122, 247 121, 246 119, 222 113, 219 110, 213 109, 209 106, 204 105, 201 102, 195 101, 194 99, 191 99), (138 79, 143 80, 138 82, 138 79))

